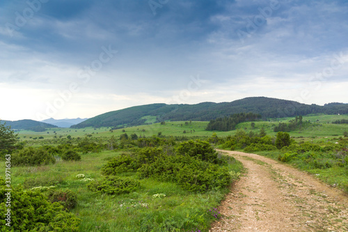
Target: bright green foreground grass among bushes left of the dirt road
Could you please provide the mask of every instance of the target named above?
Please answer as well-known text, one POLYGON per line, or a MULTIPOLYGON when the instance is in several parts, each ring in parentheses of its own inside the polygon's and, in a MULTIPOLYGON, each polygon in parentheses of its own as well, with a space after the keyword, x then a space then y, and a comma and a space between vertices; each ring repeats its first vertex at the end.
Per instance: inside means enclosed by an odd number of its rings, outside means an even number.
MULTIPOLYGON (((84 174, 86 178, 102 178, 102 166, 122 152, 88 153, 82 155, 79 162, 12 167, 11 184, 23 185, 27 179, 63 179, 54 189, 69 189, 77 193, 78 204, 72 212, 82 220, 81 231, 209 231, 209 225, 216 218, 208 210, 219 206, 229 192, 228 188, 200 194, 182 190, 175 183, 148 178, 139 180, 141 186, 136 192, 107 195, 91 192, 86 186, 88 182, 77 178, 78 174, 84 174), (155 194, 165 196, 155 198, 155 194)), ((4 162, 0 165, 5 166, 4 162)), ((236 160, 228 168, 235 178, 242 172, 242 164, 236 160)), ((136 173, 123 173, 122 176, 137 178, 136 173)))

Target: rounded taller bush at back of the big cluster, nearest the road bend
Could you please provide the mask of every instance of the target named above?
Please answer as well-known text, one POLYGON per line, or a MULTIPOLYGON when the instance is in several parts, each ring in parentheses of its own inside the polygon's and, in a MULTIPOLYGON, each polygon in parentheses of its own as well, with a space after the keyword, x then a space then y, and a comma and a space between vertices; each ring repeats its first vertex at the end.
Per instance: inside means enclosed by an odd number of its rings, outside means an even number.
POLYGON ((184 141, 177 147, 177 153, 207 162, 217 162, 217 153, 207 141, 184 141))

